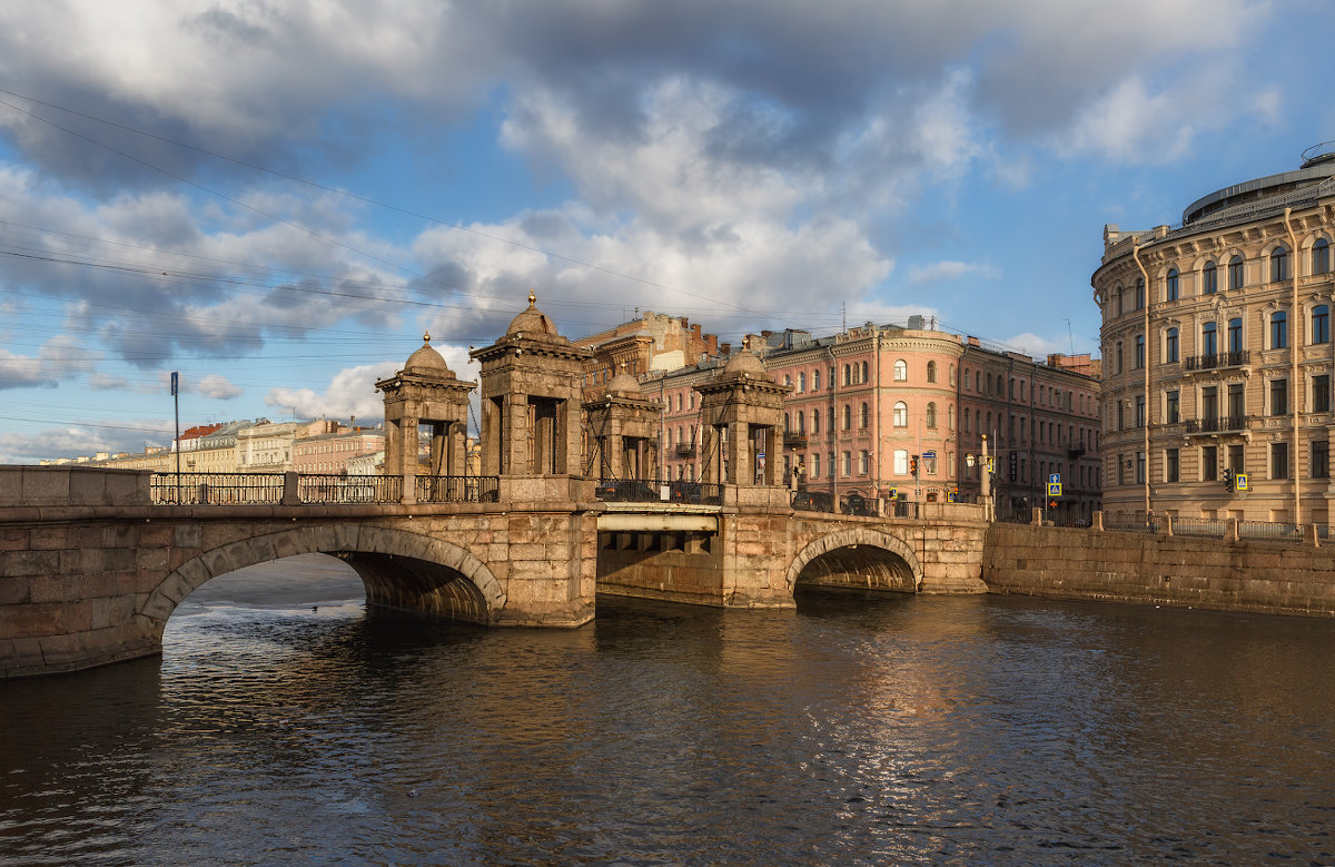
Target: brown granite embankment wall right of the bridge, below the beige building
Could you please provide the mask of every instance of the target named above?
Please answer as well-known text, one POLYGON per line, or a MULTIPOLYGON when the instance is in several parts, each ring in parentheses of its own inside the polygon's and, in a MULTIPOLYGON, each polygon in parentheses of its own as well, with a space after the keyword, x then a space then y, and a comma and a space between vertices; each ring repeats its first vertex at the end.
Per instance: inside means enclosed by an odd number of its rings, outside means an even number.
POLYGON ((988 528, 992 593, 1335 616, 1335 548, 1019 524, 988 528))

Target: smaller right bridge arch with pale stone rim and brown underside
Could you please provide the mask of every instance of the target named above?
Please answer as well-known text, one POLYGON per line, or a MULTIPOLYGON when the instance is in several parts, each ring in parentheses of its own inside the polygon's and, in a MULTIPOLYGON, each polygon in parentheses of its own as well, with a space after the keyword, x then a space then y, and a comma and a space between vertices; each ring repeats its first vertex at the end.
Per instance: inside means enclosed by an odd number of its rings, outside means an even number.
POLYGON ((788 590, 798 581, 814 586, 848 586, 914 593, 922 565, 897 536, 865 526, 837 530, 808 544, 788 566, 788 590))

